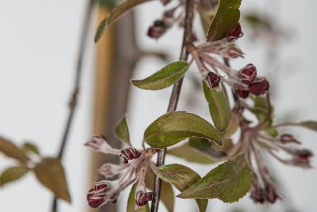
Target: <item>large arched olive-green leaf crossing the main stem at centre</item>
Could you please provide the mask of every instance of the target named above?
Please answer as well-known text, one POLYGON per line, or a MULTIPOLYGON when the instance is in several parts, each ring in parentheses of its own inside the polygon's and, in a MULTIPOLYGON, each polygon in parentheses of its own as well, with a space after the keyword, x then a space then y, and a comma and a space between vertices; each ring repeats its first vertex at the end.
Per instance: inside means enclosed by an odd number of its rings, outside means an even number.
POLYGON ((209 122, 182 111, 162 115, 144 132, 144 141, 154 148, 171 146, 191 137, 204 138, 222 146, 220 134, 209 122))

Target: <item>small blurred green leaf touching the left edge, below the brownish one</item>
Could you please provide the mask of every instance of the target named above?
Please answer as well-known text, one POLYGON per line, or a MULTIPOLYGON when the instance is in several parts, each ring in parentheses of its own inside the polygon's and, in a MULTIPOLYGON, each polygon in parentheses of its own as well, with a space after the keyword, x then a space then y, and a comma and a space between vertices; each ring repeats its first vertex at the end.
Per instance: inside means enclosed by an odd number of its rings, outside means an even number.
POLYGON ((25 166, 13 166, 6 169, 0 176, 0 186, 21 178, 28 170, 25 166))

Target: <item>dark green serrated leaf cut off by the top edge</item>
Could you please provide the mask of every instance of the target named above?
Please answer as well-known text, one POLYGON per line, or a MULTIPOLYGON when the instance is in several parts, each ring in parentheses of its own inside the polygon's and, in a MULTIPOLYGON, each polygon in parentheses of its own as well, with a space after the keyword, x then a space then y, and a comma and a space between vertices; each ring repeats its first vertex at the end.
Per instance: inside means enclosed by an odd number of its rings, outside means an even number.
POLYGON ((225 38, 237 26, 240 18, 241 0, 220 0, 207 33, 207 41, 225 38))

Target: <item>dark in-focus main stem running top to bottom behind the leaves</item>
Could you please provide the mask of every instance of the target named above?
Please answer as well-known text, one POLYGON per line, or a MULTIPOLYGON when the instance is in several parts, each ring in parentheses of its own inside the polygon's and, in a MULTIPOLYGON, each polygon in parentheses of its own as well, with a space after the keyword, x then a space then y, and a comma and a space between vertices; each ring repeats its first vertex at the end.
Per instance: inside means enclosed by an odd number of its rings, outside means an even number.
MULTIPOLYGON (((183 44, 180 54, 180 60, 187 61, 188 51, 187 47, 192 43, 192 27, 193 27, 193 18, 194 18, 194 0, 186 0, 186 15, 185 15, 185 29, 183 35, 183 44)), ((167 113, 175 111, 178 103, 178 98, 180 94, 180 89, 182 86, 183 78, 180 78, 173 87, 172 94, 170 96, 169 105, 167 113)), ((166 148, 159 150, 157 166, 164 164, 166 154, 166 148)), ((155 177, 154 188, 153 188, 153 201, 151 212, 158 212, 159 209, 159 197, 161 189, 161 180, 158 176, 155 177)))

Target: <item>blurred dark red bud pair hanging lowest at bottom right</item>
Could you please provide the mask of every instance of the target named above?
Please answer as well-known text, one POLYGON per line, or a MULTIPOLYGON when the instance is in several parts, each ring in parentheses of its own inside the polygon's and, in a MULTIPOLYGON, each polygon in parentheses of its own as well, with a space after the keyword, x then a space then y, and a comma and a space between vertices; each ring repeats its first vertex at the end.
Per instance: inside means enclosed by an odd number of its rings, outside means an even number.
POLYGON ((264 182, 262 188, 257 177, 252 182, 250 197, 256 203, 275 203, 277 199, 282 198, 272 183, 264 182))

